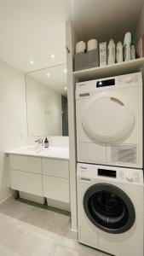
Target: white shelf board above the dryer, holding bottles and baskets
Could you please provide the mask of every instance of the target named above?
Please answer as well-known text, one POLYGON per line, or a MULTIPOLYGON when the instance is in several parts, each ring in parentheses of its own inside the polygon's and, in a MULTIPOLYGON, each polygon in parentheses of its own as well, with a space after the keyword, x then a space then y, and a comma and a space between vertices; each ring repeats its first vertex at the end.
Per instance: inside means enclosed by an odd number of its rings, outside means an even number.
POLYGON ((144 58, 116 63, 105 67, 93 67, 75 71, 73 72, 73 76, 75 79, 83 82, 91 79, 101 79, 126 73, 139 72, 141 67, 144 67, 144 58))

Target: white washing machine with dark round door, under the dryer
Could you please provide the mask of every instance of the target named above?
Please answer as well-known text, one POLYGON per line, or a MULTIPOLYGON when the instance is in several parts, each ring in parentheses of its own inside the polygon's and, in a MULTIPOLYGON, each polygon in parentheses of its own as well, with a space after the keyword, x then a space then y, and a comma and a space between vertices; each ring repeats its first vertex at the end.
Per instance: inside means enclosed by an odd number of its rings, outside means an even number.
POLYGON ((142 170, 78 163, 78 241, 143 256, 142 170))

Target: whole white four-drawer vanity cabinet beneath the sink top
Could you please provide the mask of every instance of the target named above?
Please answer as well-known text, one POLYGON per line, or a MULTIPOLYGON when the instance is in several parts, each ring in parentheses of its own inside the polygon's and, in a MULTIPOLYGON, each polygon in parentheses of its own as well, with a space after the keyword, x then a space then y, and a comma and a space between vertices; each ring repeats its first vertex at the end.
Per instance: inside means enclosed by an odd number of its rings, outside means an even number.
POLYGON ((9 154, 9 164, 11 189, 69 204, 69 160, 9 154))

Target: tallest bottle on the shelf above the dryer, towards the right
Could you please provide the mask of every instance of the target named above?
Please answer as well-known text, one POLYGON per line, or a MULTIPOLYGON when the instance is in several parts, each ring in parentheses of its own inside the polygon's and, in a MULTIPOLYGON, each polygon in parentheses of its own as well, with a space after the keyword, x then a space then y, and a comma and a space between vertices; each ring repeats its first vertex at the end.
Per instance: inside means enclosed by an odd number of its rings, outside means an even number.
POLYGON ((131 33, 127 32, 124 36, 124 61, 130 61, 130 45, 131 45, 131 33))

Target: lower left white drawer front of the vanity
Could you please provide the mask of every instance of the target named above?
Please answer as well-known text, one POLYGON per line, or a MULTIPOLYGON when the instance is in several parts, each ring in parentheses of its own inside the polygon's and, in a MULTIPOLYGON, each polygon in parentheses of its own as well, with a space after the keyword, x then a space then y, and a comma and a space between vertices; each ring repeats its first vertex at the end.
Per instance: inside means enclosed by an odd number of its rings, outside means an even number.
POLYGON ((42 175, 10 170, 11 189, 43 196, 42 175))

